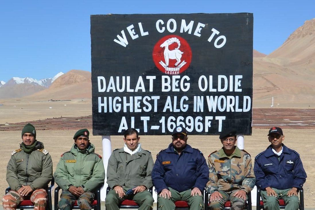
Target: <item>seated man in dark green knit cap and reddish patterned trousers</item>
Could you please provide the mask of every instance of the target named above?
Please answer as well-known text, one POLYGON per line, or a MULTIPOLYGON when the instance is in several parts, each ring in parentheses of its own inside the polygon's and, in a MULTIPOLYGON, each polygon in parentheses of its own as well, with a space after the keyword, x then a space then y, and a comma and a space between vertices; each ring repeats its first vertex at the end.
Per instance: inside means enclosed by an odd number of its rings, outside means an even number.
POLYGON ((22 129, 20 149, 14 150, 7 166, 7 182, 11 190, 3 197, 4 210, 16 209, 23 200, 31 200, 35 210, 45 210, 44 188, 53 178, 53 162, 42 142, 36 140, 34 126, 22 129))

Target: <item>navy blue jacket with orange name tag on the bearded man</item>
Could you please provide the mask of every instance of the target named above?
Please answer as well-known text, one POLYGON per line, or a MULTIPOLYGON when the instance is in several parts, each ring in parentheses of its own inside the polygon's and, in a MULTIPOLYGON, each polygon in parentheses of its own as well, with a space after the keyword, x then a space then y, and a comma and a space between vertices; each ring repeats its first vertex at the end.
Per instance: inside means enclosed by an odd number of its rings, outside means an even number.
POLYGON ((180 153, 172 143, 157 155, 152 171, 152 181, 157 193, 172 188, 179 192, 197 187, 203 192, 209 178, 209 169, 203 154, 186 145, 180 153))

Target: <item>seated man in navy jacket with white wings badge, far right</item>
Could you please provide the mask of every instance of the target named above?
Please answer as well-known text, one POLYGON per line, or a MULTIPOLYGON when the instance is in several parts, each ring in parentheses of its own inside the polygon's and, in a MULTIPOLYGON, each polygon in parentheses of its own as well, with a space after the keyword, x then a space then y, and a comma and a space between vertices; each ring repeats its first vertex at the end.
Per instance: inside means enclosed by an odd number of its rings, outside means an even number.
POLYGON ((279 127, 270 128, 267 149, 255 157, 256 185, 261 188, 265 209, 279 209, 278 199, 284 199, 285 209, 298 209, 298 190, 306 180, 299 153, 282 142, 284 135, 279 127))

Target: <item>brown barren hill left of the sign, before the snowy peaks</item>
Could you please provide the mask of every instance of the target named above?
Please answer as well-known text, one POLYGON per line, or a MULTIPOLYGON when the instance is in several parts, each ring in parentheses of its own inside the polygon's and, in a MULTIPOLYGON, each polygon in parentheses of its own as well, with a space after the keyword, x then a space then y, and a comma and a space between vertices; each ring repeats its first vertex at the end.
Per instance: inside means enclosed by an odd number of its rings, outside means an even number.
POLYGON ((30 96, 38 99, 83 99, 92 98, 91 72, 71 70, 58 77, 48 89, 30 96))

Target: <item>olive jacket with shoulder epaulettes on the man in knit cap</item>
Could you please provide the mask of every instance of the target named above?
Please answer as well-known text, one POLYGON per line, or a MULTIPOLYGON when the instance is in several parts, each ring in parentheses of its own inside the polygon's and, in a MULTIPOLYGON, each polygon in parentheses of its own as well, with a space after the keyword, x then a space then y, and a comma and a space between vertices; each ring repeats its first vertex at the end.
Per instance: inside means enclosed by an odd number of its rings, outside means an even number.
POLYGON ((53 178, 53 162, 42 142, 37 141, 35 149, 26 153, 14 150, 7 166, 7 182, 12 190, 29 185, 32 190, 47 187, 53 178))

